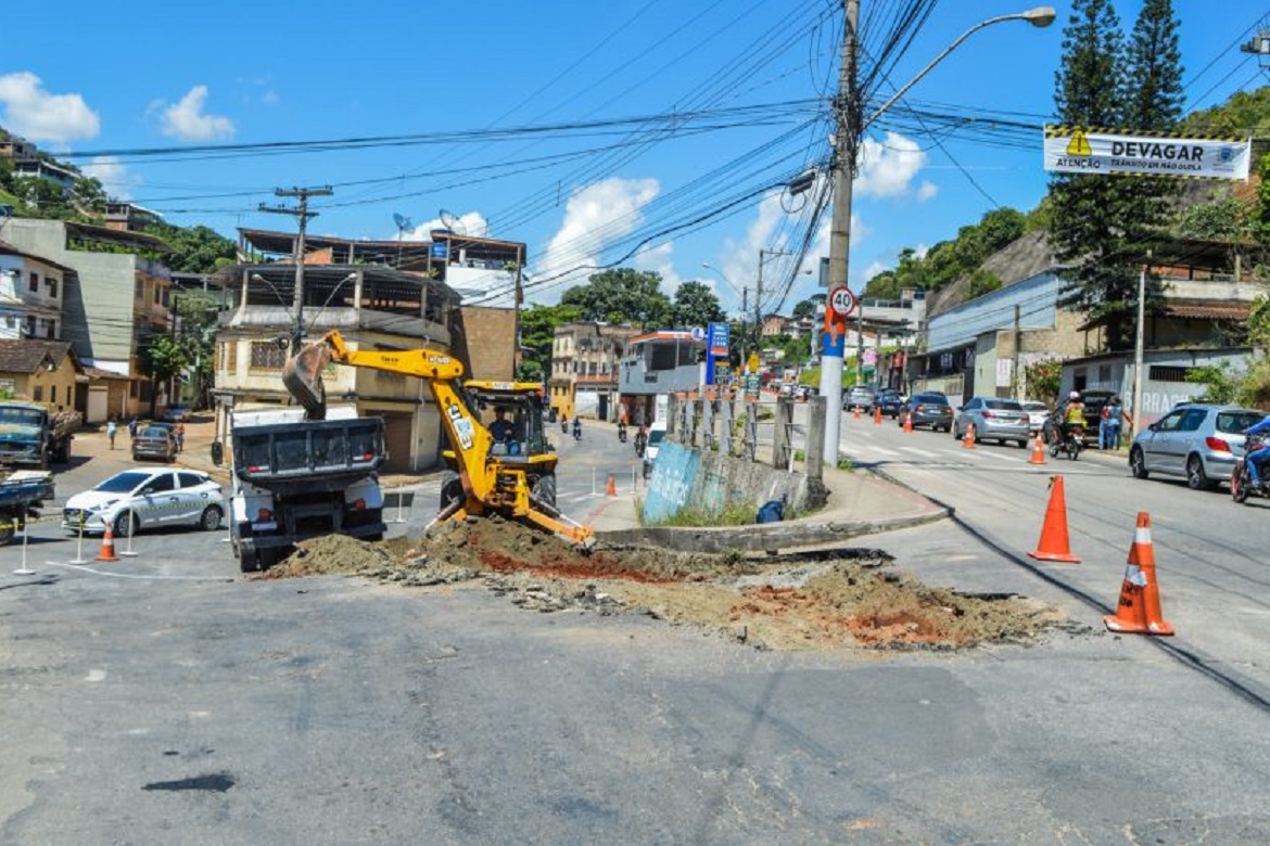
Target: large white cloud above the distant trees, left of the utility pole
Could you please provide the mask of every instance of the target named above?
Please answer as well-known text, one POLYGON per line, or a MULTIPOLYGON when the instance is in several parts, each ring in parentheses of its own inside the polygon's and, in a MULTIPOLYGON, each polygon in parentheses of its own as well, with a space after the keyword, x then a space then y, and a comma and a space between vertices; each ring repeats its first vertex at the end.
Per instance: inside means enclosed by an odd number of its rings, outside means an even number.
POLYGON ((635 231, 644 219, 640 209, 660 190, 655 179, 613 178, 574 192, 533 275, 555 279, 556 290, 585 282, 594 273, 587 265, 601 264, 606 245, 635 231))

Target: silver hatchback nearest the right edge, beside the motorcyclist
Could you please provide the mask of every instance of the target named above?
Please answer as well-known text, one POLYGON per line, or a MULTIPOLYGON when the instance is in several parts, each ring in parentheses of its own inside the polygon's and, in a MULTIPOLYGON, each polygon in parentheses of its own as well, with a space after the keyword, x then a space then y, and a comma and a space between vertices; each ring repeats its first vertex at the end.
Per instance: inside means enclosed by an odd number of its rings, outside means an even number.
POLYGON ((1243 455, 1243 430, 1265 416, 1208 403, 1173 408, 1133 439, 1129 469, 1134 478, 1160 473, 1185 477, 1195 491, 1214 488, 1231 479, 1236 459, 1243 455))

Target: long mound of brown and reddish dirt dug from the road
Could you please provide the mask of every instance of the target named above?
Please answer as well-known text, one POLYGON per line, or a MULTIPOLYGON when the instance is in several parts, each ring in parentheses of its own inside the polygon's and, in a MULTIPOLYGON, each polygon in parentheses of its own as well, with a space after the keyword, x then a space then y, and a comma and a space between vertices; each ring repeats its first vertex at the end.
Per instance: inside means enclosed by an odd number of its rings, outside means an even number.
POLYGON ((763 557, 607 548, 585 554, 488 519, 375 544, 318 538, 260 577, 347 573, 411 587, 484 586, 533 610, 644 613, 771 649, 1027 643, 1062 623, 1041 602, 931 589, 889 564, 885 552, 859 548, 763 557))

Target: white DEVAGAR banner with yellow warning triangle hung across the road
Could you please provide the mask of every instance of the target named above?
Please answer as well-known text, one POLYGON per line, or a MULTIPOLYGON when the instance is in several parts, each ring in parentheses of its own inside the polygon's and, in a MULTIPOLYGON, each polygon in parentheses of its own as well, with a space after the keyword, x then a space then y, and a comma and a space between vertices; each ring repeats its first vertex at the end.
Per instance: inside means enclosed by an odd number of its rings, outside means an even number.
POLYGON ((1054 172, 1247 181, 1251 160, 1248 138, 1118 134, 1111 129, 1045 127, 1045 170, 1054 172))

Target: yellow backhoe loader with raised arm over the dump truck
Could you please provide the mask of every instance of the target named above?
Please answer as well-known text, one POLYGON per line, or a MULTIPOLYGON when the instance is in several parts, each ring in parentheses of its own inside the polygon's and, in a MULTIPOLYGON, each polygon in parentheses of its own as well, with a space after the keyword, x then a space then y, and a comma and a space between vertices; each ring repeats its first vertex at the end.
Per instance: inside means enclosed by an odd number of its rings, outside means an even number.
POLYGON ((555 507, 556 455, 542 431, 541 388, 523 382, 460 382, 462 363, 434 350, 351 350, 338 331, 305 346, 282 368, 282 382, 310 420, 325 417, 321 372, 329 363, 423 379, 441 410, 457 478, 442 485, 438 520, 499 514, 559 534, 583 548, 594 535, 555 507), (497 420, 485 426, 483 410, 497 420))

